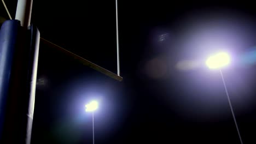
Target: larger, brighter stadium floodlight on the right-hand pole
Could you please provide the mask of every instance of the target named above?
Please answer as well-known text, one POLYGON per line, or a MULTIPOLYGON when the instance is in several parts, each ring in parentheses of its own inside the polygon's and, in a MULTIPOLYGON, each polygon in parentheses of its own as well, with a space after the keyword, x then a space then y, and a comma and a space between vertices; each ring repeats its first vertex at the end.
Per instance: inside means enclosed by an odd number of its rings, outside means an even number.
POLYGON ((210 69, 218 69, 224 67, 230 63, 230 57, 228 53, 220 52, 217 55, 211 56, 207 59, 206 65, 210 69))

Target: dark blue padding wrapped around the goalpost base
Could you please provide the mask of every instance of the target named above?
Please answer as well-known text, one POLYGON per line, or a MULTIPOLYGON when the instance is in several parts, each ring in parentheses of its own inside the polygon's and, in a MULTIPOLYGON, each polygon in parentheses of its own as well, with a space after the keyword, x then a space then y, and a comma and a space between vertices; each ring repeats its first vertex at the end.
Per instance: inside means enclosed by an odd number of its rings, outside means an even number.
POLYGON ((0 31, 0 143, 30 143, 36 92, 39 31, 19 20, 0 31))

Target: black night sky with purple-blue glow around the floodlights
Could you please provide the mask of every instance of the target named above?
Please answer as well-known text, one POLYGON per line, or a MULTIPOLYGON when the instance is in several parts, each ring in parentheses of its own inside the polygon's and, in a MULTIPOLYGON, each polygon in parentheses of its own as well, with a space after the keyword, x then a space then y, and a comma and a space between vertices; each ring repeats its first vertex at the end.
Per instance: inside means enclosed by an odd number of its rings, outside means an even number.
MULTIPOLYGON (((14 17, 16 1, 6 3, 14 17)), ((84 105, 93 99, 98 144, 240 143, 219 71, 204 64, 222 50, 233 58, 223 75, 243 143, 256 143, 253 2, 118 4, 123 81, 40 44, 31 143, 92 143, 84 105)), ((117 73, 115 1, 34 1, 32 23, 42 38, 117 73)))

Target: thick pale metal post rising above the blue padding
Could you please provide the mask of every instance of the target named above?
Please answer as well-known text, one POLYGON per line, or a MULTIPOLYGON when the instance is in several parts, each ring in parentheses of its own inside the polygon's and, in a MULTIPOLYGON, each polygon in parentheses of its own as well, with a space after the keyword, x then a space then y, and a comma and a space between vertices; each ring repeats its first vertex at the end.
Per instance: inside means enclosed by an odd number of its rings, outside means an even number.
POLYGON ((15 20, 19 20, 22 27, 29 27, 31 21, 33 0, 18 0, 15 20))

